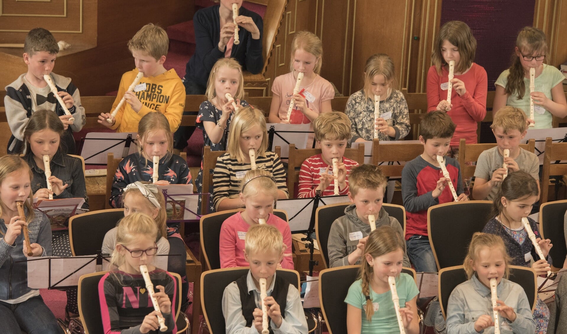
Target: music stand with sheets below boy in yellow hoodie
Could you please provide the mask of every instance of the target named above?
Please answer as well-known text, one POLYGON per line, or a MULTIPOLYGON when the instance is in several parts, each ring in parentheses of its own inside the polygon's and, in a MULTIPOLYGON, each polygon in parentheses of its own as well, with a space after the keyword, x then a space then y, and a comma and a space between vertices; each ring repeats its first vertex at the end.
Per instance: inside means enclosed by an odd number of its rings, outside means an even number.
POLYGON ((81 157, 85 166, 106 166, 108 153, 125 158, 136 153, 136 132, 90 132, 83 138, 81 157))

